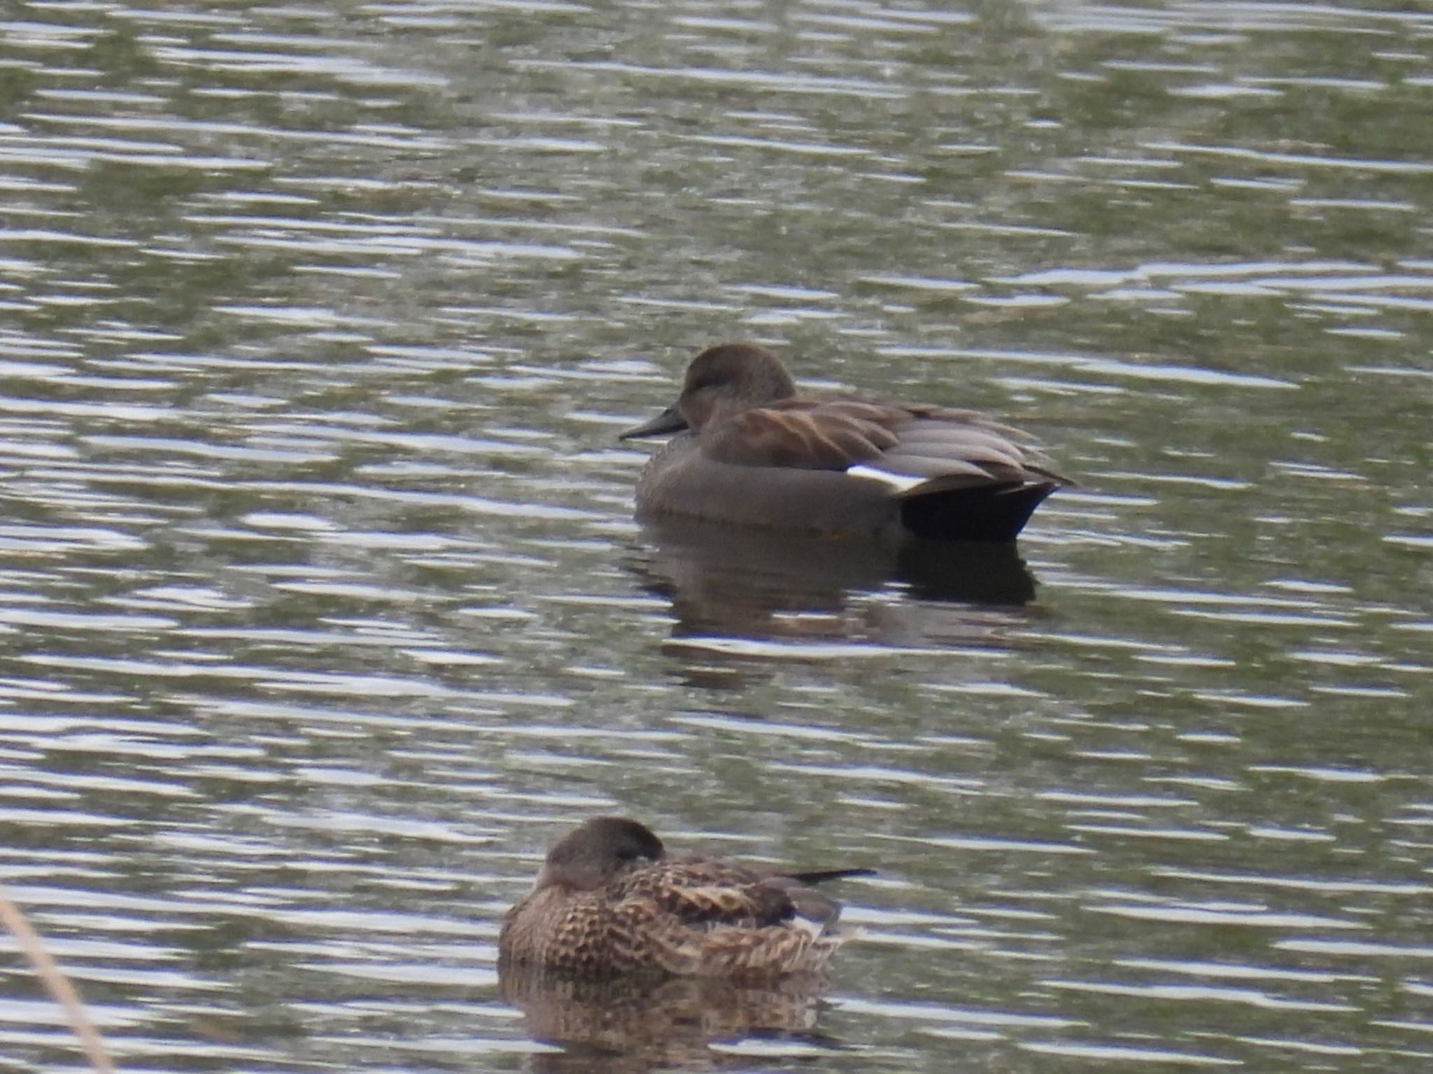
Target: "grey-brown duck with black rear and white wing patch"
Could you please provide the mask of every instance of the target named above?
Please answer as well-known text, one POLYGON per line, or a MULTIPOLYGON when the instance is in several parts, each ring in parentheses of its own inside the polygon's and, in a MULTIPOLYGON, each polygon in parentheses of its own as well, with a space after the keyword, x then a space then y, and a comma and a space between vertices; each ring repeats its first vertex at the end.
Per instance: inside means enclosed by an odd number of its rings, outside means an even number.
POLYGON ((676 402, 620 438, 674 432, 638 481, 639 514, 1013 541, 1069 484, 1030 437, 974 411, 800 397, 757 344, 702 351, 676 402))

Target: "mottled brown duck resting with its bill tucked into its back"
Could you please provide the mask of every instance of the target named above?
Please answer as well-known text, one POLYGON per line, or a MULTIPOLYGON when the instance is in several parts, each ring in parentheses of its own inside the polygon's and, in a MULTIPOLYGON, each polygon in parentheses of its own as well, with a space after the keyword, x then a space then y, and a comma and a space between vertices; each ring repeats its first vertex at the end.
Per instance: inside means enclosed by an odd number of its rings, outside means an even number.
POLYGON ((807 885, 870 869, 780 872, 669 858, 636 821, 596 816, 559 839, 503 919, 504 964, 579 977, 641 971, 764 979, 821 969, 847 939, 807 885))

